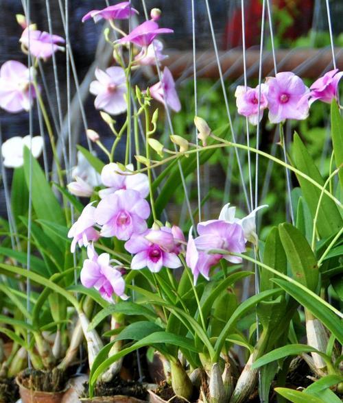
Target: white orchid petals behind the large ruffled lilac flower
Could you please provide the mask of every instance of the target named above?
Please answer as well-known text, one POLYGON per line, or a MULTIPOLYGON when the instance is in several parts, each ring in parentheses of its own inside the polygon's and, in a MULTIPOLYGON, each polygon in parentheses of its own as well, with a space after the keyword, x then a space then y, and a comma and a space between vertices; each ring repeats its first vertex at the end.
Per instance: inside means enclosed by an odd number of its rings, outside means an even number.
POLYGON ((256 213, 257 211, 261 210, 261 208, 265 207, 268 207, 268 204, 263 204, 262 206, 259 206, 254 210, 252 210, 252 212, 250 212, 250 214, 248 214, 246 217, 238 219, 235 218, 236 208, 230 207, 230 203, 228 203, 225 204, 225 206, 222 208, 219 215, 219 219, 227 221, 228 223, 237 223, 241 225, 241 228, 243 228, 244 238, 246 239, 246 241, 255 243, 256 245, 257 242, 259 241, 256 229, 256 213))

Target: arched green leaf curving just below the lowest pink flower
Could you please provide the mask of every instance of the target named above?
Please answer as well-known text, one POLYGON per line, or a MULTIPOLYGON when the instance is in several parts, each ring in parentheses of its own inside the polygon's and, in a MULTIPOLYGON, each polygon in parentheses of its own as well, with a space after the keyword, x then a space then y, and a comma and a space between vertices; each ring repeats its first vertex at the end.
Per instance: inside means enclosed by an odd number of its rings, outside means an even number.
POLYGON ((142 315, 153 321, 157 318, 154 311, 145 306, 130 301, 118 302, 115 305, 111 304, 107 308, 100 310, 97 315, 93 317, 88 326, 88 330, 93 330, 101 321, 108 317, 108 315, 113 315, 114 313, 123 313, 124 315, 142 315))

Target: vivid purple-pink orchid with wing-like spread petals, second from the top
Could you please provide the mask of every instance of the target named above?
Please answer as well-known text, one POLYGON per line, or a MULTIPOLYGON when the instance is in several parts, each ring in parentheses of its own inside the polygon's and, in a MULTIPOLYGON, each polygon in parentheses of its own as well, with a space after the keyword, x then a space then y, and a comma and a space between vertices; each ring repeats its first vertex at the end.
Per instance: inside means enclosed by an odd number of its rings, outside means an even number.
POLYGON ((158 27, 158 23, 155 21, 145 21, 145 23, 139 25, 138 27, 132 29, 130 34, 123 36, 117 40, 119 43, 134 43, 134 45, 140 47, 147 47, 149 46, 152 41, 156 38, 159 34, 172 34, 174 31, 173 29, 169 28, 160 28, 158 27))

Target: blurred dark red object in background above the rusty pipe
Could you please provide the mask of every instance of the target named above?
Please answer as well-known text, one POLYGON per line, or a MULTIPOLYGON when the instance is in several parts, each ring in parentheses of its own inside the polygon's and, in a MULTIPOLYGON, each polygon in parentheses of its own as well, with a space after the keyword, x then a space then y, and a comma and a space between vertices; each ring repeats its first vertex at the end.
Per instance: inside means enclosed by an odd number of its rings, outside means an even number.
MULTIPOLYGON (((293 24, 286 29, 283 38, 294 39, 307 34, 312 25, 314 0, 274 0, 270 3, 274 11, 275 8, 279 10, 286 9, 294 20, 293 24)), ((262 1, 246 1, 244 16, 246 48, 259 45, 261 40, 262 1)), ((265 19, 268 19, 267 10, 265 10, 265 19)), ((274 32, 277 32, 277 23, 276 27, 274 27, 274 32)), ((226 23, 223 46, 224 49, 231 49, 241 46, 241 43, 241 8, 237 8, 226 23)))

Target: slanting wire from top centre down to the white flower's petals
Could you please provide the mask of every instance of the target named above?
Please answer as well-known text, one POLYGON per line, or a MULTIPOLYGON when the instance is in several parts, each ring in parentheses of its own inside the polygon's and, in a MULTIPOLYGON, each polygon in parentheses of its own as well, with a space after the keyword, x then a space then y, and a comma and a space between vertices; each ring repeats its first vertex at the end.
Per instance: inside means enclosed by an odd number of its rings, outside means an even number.
MULTIPOLYGON (((215 51, 215 59, 217 61, 218 71, 219 71, 219 74, 220 74, 220 83, 222 84, 222 92, 223 92, 223 96, 224 96, 226 114, 227 114, 227 117, 228 117, 228 123, 230 125, 230 130, 231 130, 233 141, 236 143, 236 135, 235 135, 234 127, 233 127, 233 121, 231 119, 230 107, 228 105, 228 96, 226 94, 224 77, 223 77, 223 73, 222 73, 222 66, 220 64, 220 57, 219 57, 219 53, 218 53, 218 49, 217 49, 217 40, 215 39, 215 32, 214 32, 214 28, 213 28, 211 10, 210 10, 210 7, 209 7, 209 0, 205 0, 205 3, 206 3, 206 11, 207 11, 208 19, 209 19, 209 25, 210 25, 211 36, 212 36, 212 41, 213 41, 213 48, 214 48, 214 51, 215 51)), ((251 207, 250 207, 248 192, 246 190, 246 183, 244 181, 244 173, 243 173, 243 169, 241 167, 241 160, 239 158, 239 152, 238 152, 237 148, 235 148, 235 154, 236 154, 236 158, 237 158, 239 175, 240 175, 240 178, 241 178, 241 185, 242 185, 242 188, 243 188, 243 191, 244 191, 244 197, 246 199, 246 205, 248 206, 248 210, 250 210, 251 207)))

